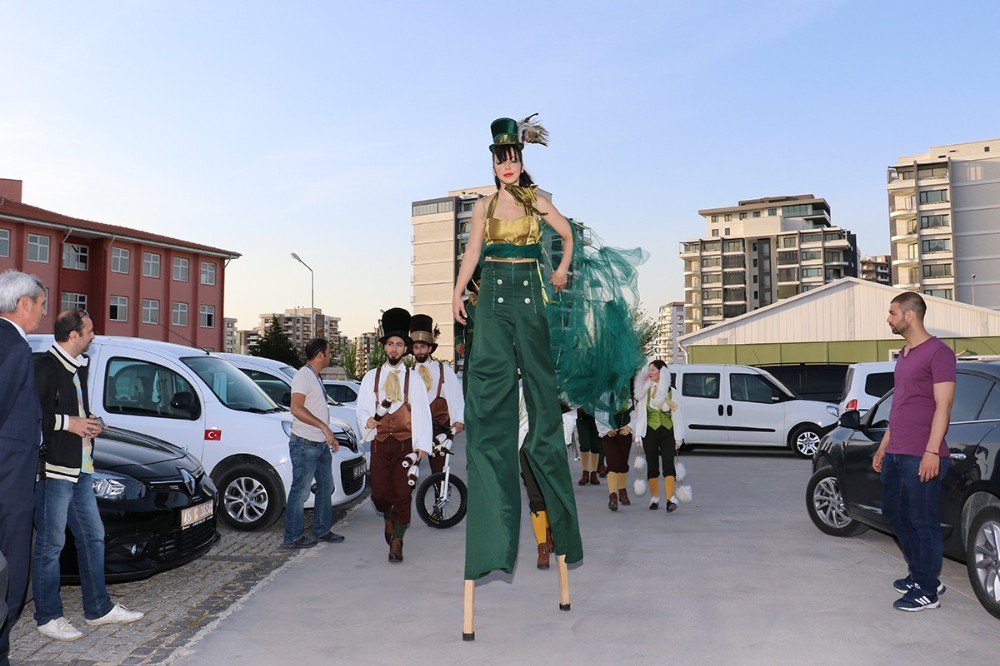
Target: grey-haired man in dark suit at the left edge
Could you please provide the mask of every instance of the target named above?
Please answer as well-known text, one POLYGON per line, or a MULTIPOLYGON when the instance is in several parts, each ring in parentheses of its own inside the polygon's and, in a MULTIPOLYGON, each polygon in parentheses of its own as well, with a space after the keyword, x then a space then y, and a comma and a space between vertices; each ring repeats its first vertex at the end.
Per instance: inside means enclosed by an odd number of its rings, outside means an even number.
POLYGON ((33 275, 0 273, 0 552, 7 558, 7 619, 0 627, 0 666, 8 664, 10 630, 24 606, 41 410, 28 333, 45 312, 45 287, 33 275))

